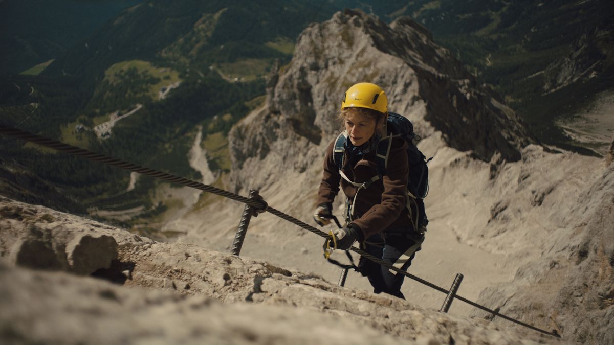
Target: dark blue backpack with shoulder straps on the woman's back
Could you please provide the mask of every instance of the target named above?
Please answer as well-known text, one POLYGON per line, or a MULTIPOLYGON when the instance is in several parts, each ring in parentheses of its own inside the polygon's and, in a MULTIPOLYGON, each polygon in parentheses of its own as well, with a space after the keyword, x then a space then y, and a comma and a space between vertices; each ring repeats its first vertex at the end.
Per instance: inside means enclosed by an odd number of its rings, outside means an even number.
MULTIPOLYGON (((410 212, 410 217, 414 225, 414 229, 420 233, 426 231, 426 226, 429 223, 429 219, 426 217, 424 210, 424 198, 429 193, 429 163, 433 157, 428 160, 424 154, 414 145, 414 140, 419 141, 420 137, 414 133, 414 126, 407 118, 402 115, 395 114, 393 112, 388 113, 386 122, 386 136, 379 139, 379 143, 376 149, 376 169, 377 176, 374 176, 371 180, 358 184, 349 180, 347 176, 341 171, 343 167, 344 157, 344 144, 348 139, 347 131, 343 131, 335 140, 335 148, 333 149, 333 160, 335 161, 337 168, 341 174, 341 177, 348 181, 350 184, 358 187, 359 189, 354 196, 354 202, 356 202, 356 196, 360 189, 368 188, 373 182, 381 179, 386 175, 386 167, 388 163, 388 156, 390 155, 390 148, 393 138, 401 138, 407 142, 407 161, 410 166, 408 173, 407 183, 407 209, 410 212)), ((350 203, 349 200, 346 203, 346 218, 352 220, 354 202, 350 203)))

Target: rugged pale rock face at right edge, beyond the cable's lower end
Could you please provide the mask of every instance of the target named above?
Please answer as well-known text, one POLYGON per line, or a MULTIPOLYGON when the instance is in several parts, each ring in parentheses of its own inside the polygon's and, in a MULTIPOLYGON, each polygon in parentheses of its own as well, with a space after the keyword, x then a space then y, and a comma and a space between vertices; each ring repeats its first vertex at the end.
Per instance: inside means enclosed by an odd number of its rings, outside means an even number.
POLYGON ((570 197, 577 198, 570 231, 553 232, 542 257, 518 269, 512 282, 484 290, 479 301, 529 323, 550 324, 578 343, 612 344, 614 165, 589 190, 570 197))

